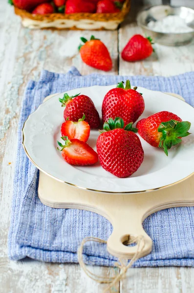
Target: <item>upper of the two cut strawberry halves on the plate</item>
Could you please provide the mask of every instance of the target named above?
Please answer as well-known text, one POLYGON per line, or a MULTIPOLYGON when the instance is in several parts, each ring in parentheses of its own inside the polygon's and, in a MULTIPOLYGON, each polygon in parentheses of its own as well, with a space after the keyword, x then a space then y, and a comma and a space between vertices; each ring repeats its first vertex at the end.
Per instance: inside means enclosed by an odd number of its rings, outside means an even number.
POLYGON ((68 136, 70 140, 77 138, 86 143, 89 138, 90 127, 84 119, 85 115, 83 115, 82 119, 79 119, 78 122, 66 120, 61 126, 62 136, 68 136))

